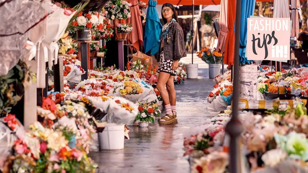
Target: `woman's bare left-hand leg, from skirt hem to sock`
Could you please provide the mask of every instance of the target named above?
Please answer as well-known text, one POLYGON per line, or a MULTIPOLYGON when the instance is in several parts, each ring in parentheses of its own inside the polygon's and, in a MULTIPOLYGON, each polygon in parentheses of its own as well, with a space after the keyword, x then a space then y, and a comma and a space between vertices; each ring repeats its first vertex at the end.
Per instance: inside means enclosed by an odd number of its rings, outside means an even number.
POLYGON ((156 85, 158 91, 160 92, 161 98, 163 99, 164 105, 170 104, 169 95, 165 88, 165 85, 168 82, 169 77, 170 77, 169 73, 160 72, 158 76, 157 85, 156 85))

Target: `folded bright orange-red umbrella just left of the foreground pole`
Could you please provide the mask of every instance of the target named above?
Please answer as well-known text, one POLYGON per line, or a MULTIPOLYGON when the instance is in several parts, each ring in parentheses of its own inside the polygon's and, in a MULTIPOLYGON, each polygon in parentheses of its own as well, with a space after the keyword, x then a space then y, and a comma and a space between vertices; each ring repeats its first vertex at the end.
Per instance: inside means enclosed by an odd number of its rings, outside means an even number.
POLYGON ((234 61, 234 23, 236 14, 236 1, 228 2, 228 33, 225 47, 224 63, 233 65, 234 61))

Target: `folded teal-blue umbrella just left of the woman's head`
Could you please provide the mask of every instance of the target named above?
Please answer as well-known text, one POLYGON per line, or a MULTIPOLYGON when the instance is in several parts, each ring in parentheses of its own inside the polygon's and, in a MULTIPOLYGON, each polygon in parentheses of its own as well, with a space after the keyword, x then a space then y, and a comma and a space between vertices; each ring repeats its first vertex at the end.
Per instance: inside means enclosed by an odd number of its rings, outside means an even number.
POLYGON ((144 51, 150 51, 152 55, 158 52, 160 44, 160 34, 163 28, 158 18, 156 4, 157 1, 149 0, 143 36, 144 51))

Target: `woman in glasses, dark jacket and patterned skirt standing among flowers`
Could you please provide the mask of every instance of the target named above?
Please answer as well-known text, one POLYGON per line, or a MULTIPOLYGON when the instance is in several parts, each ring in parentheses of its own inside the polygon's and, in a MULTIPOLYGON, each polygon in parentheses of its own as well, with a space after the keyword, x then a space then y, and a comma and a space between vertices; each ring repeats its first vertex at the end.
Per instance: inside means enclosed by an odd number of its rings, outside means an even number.
POLYGON ((179 60, 186 57, 184 47, 183 30, 178 23, 174 6, 170 3, 165 3, 161 10, 165 25, 160 36, 160 49, 157 89, 163 99, 166 108, 166 116, 159 120, 160 124, 177 123, 176 119, 176 93, 174 89, 174 76, 179 66, 179 60), (165 88, 167 87, 167 90, 165 88))

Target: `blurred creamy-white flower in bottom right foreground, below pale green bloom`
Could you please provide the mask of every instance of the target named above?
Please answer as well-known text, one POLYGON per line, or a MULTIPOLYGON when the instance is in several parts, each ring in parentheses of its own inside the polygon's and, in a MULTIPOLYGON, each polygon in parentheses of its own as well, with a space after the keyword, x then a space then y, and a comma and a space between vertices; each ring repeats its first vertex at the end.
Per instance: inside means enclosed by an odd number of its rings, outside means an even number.
POLYGON ((267 151, 264 155, 262 155, 261 159, 266 166, 274 167, 276 164, 286 159, 286 157, 286 151, 283 151, 281 149, 274 149, 267 151))

